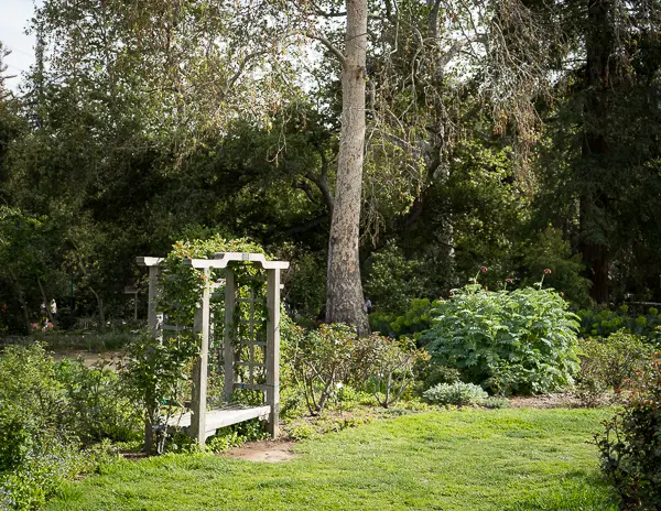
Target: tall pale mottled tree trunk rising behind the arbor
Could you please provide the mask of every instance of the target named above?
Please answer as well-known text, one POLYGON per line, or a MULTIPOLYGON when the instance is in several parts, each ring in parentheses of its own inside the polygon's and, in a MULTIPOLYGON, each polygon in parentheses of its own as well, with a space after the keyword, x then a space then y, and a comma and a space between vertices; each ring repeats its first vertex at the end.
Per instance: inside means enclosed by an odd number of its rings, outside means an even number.
POLYGON ((347 0, 347 34, 342 67, 342 140, 330 239, 326 320, 356 326, 369 333, 364 312, 358 240, 365 152, 365 65, 367 0, 347 0))

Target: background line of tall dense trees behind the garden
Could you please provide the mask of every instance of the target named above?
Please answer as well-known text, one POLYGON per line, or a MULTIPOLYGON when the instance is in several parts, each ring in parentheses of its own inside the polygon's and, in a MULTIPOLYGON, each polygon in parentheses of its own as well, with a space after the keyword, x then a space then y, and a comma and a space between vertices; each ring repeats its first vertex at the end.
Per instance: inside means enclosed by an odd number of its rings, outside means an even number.
POLYGON ((52 296, 126 316, 136 256, 210 232, 292 260, 291 309, 324 317, 357 8, 350 279, 377 309, 481 265, 490 289, 552 268, 582 306, 659 300, 655 1, 48 0, 20 93, 0 81, 0 327, 52 296))

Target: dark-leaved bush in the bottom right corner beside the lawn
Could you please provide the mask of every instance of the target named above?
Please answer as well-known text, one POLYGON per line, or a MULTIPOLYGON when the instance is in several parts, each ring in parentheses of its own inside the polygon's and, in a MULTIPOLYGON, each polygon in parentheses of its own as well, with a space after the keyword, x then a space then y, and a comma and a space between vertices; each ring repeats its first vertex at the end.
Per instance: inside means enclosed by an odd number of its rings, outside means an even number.
POLYGON ((627 384, 622 410, 596 443, 624 509, 661 509, 661 354, 627 384))

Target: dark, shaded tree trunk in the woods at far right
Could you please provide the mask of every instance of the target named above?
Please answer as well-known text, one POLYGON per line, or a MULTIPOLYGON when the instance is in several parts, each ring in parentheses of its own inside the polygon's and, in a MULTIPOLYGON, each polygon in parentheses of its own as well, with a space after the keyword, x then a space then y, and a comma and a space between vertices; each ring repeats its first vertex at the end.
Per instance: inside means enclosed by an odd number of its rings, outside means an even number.
POLYGON ((607 233, 599 227, 598 217, 607 216, 609 205, 606 183, 602 180, 608 165, 608 141, 605 128, 609 122, 608 95, 617 69, 613 64, 615 34, 611 0, 587 0, 588 32, 585 40, 587 98, 584 106, 582 157, 584 180, 596 185, 582 186, 581 251, 592 280, 590 295, 599 304, 608 303, 609 249, 604 242, 607 233), (590 175, 587 176, 587 173, 590 175), (596 175, 595 175, 596 174, 596 175), (589 178, 588 178, 589 177, 589 178))

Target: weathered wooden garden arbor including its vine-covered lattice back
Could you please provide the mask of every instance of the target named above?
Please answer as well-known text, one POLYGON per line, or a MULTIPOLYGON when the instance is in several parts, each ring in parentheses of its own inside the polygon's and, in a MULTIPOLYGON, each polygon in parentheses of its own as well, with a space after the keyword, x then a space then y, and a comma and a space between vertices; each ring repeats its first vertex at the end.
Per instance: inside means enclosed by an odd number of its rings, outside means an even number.
MULTIPOLYGON (((193 370, 193 392, 189 412, 167 420, 167 426, 181 426, 204 446, 206 438, 218 428, 249 421, 267 420, 271 436, 279 430, 280 382, 280 271, 289 268, 286 261, 267 261, 261 253, 220 252, 213 259, 189 259, 184 264, 204 274, 205 285, 197 296, 193 325, 169 325, 159 307, 163 276, 161 258, 138 258, 149 268, 148 323, 152 335, 163 338, 173 331, 192 328, 199 339, 199 356, 193 370), (256 275, 246 275, 241 267, 258 269, 256 275), (266 273, 266 301, 258 295, 266 273), (221 275, 221 278, 220 278, 221 275), (220 291, 224 289, 224 292, 220 291), (212 300, 223 297, 223 335, 214 328, 212 300), (266 305, 266 319, 257 320, 256 311, 266 305), (261 324, 260 324, 261 323, 261 324), (216 338, 218 337, 218 338, 216 338), (218 357, 218 372, 224 373, 223 404, 207 410, 209 354, 218 357), (259 391, 262 405, 232 405, 237 390, 259 391)), ((216 311, 218 313, 218 311, 216 311)))

